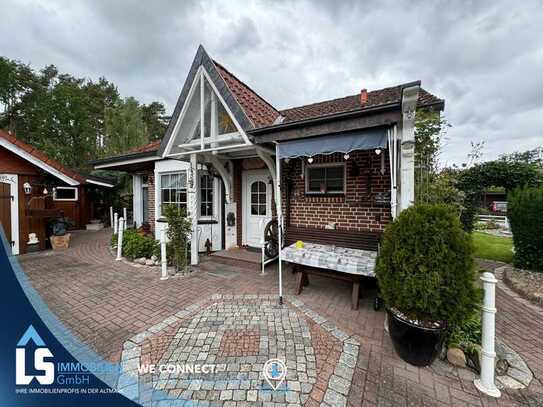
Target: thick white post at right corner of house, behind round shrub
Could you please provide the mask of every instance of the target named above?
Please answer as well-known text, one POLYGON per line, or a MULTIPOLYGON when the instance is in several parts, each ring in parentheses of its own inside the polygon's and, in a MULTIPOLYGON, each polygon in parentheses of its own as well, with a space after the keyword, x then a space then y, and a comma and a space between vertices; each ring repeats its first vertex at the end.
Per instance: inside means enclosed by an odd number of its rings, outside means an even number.
POLYGON ((400 151, 400 211, 415 203, 415 113, 420 85, 403 89, 400 151))

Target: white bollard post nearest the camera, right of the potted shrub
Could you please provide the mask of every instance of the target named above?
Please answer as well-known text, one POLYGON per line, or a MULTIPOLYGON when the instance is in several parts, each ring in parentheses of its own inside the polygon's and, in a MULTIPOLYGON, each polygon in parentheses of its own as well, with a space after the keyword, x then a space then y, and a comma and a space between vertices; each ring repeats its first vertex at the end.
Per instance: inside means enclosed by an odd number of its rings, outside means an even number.
POLYGON ((500 397, 500 390, 494 383, 494 367, 496 351, 494 349, 496 331, 496 277, 486 272, 481 276, 485 290, 483 301, 482 349, 481 349, 481 378, 473 384, 480 392, 491 397, 500 397))

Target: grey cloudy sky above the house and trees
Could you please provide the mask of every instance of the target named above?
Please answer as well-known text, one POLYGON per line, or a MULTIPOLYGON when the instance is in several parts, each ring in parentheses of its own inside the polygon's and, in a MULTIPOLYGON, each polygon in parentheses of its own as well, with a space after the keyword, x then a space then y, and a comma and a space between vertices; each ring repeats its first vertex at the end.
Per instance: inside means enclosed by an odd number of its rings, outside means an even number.
POLYGON ((0 55, 173 109, 198 44, 277 108, 420 79, 442 163, 543 145, 541 1, 0 0, 0 55), (338 4, 335 4, 338 3, 338 4))

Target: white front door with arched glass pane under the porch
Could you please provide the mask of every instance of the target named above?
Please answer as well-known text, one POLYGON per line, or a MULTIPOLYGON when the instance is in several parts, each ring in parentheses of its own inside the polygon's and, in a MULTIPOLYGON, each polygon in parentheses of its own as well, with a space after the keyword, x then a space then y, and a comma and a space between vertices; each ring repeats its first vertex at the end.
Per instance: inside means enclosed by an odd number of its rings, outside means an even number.
POLYGON ((243 172, 243 244, 262 247, 264 228, 272 218, 272 186, 267 170, 243 172))

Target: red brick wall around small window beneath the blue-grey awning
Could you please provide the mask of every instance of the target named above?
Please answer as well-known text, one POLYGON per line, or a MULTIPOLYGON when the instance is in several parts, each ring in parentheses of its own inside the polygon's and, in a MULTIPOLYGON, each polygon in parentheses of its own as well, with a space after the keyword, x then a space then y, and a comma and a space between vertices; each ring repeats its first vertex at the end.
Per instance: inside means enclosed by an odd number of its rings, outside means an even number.
MULTIPOLYGON (((374 151, 356 151, 345 161, 343 154, 315 156, 316 163, 347 163, 346 193, 341 196, 310 196, 305 194, 305 180, 301 178, 302 159, 283 163, 283 213, 286 216, 285 191, 287 179, 292 180, 290 196, 290 224, 299 227, 324 228, 336 223, 336 228, 349 231, 382 231, 391 221, 390 171, 388 152, 384 155, 385 173, 381 175, 381 157, 374 151), (371 160, 371 161, 370 161, 371 160), (353 163, 358 166, 358 175, 353 163), (371 191, 369 186, 371 185, 371 191), (375 202, 378 193, 385 203, 375 202)), ((307 159, 306 165, 307 164, 307 159)))

